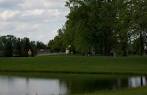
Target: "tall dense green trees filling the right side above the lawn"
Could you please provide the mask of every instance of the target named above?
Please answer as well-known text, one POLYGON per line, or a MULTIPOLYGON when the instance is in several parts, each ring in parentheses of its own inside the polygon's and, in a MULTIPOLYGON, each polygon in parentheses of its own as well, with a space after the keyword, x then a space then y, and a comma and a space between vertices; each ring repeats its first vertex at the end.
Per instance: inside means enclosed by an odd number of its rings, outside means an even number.
POLYGON ((147 0, 67 0, 67 21, 49 42, 53 51, 144 55, 147 49, 147 0))

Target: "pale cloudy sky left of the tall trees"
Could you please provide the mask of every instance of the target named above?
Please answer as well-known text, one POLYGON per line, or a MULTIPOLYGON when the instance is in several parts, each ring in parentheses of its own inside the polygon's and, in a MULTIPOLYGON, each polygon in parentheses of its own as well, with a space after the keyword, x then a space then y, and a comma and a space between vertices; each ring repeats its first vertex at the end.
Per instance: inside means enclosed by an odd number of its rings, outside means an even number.
POLYGON ((65 0, 0 0, 0 36, 48 43, 66 22, 65 0))

